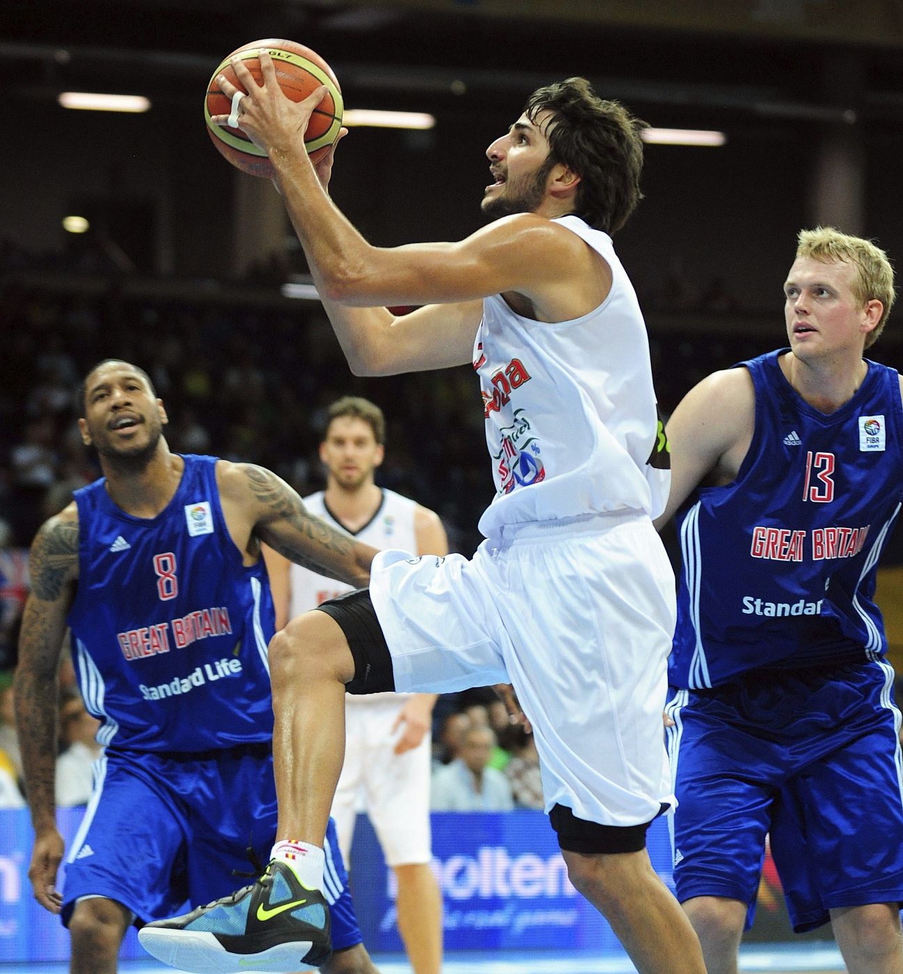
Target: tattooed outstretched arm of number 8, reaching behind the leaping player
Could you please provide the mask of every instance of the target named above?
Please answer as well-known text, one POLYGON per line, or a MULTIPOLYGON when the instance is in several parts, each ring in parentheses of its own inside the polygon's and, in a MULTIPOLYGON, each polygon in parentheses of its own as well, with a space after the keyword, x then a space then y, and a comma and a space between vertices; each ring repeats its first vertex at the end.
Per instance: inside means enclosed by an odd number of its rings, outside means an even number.
POLYGON ((254 464, 219 461, 216 470, 223 505, 242 512, 255 538, 296 565, 364 587, 376 549, 336 531, 311 514, 281 477, 254 464))

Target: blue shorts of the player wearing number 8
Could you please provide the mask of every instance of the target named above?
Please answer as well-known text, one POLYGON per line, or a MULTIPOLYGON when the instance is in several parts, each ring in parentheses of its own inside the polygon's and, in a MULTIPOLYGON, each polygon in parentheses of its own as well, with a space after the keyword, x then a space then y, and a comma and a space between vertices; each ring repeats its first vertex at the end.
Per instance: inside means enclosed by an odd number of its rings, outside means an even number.
MULTIPOLYGON (((107 749, 66 856, 65 925, 82 896, 116 900, 141 924, 177 916, 252 881, 249 845, 265 863, 276 836, 273 760, 265 745, 211 753, 177 760, 107 749)), ((361 931, 332 819, 325 851, 324 894, 333 949, 340 951, 361 943, 361 931)))

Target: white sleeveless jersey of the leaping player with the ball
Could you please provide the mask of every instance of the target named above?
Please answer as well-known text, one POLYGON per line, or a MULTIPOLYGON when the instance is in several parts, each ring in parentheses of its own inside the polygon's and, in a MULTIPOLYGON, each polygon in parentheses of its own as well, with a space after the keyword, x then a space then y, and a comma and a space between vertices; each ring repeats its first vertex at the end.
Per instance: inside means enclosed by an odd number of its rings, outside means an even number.
POLYGON ((549 324, 522 318, 495 294, 483 302, 480 376, 496 495, 480 519, 504 525, 592 512, 646 511, 668 499, 670 471, 648 459, 659 427, 646 322, 608 234, 576 216, 555 221, 611 269, 606 300, 549 324))

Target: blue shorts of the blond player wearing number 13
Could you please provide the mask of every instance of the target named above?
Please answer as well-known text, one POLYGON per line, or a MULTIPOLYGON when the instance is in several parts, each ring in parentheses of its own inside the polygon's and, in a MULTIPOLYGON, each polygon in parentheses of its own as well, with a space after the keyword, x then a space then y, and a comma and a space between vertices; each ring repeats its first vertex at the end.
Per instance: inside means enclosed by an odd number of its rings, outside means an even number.
POLYGON ((798 933, 829 911, 903 902, 900 711, 884 661, 674 690, 674 881, 683 903, 749 905, 769 837, 798 933))

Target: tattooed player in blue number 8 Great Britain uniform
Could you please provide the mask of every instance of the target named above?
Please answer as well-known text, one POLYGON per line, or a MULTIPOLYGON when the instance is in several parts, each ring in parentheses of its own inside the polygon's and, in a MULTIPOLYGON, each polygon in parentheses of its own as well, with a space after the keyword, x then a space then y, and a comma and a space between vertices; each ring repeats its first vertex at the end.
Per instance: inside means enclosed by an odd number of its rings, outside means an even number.
MULTIPOLYGON (((311 515, 269 470, 172 453, 163 403, 128 362, 95 367, 81 405, 82 438, 104 475, 32 544, 16 707, 35 832, 28 875, 38 902, 69 927, 70 970, 93 974, 116 969, 130 924, 143 935, 189 900, 231 891, 236 873, 249 875, 275 840, 267 658, 275 618, 261 543, 358 585, 375 549, 311 515), (58 892, 57 664, 67 624, 105 752, 58 892)), ((244 930, 217 926, 204 908, 192 935, 223 938, 255 970, 285 960, 288 969, 375 974, 332 825, 323 855, 322 890, 270 870, 236 897, 266 942, 293 926, 287 958, 266 944, 244 950, 244 930)))

